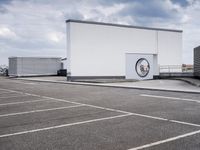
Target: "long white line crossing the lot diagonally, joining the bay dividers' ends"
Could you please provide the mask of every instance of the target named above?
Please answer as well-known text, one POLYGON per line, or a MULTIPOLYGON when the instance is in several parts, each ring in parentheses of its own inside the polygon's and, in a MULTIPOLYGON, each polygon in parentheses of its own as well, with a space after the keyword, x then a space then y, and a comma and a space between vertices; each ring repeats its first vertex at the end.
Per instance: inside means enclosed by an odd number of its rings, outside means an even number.
MULTIPOLYGON (((13 90, 11 90, 11 91, 13 91, 13 90)), ((18 92, 18 91, 16 91, 16 92, 18 92)), ((183 125, 189 125, 189 126, 195 126, 195 127, 199 127, 200 126, 199 124, 193 124, 193 123, 183 122, 183 121, 178 121, 178 120, 169 120, 169 119, 166 119, 166 118, 149 116, 149 115, 139 114, 139 113, 131 113, 131 112, 123 111, 123 110, 119 110, 119 109, 112 109, 112 108, 106 108, 106 107, 101 107, 101 106, 96 106, 96 105, 73 102, 73 101, 69 101, 69 100, 65 100, 65 99, 57 99, 57 98, 41 96, 41 95, 36 95, 36 94, 30 94, 30 93, 25 93, 25 94, 33 95, 33 96, 37 96, 37 97, 41 97, 41 98, 52 99, 52 100, 55 100, 55 101, 67 102, 67 103, 71 103, 71 104, 85 105, 85 106, 89 106, 89 107, 93 107, 93 108, 99 108, 99 109, 108 110, 108 111, 120 112, 120 113, 125 113, 125 114, 132 114, 133 116, 139 116, 139 117, 150 118, 150 119, 155 119, 155 120, 168 121, 168 122, 173 122, 173 123, 183 124, 183 125)))

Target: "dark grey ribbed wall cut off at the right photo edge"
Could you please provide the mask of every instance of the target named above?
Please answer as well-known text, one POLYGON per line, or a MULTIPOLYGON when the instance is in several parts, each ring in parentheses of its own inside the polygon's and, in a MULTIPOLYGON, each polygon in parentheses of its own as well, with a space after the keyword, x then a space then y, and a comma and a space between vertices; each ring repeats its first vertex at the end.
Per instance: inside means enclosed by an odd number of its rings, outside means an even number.
POLYGON ((200 77, 200 46, 194 48, 194 76, 200 77))

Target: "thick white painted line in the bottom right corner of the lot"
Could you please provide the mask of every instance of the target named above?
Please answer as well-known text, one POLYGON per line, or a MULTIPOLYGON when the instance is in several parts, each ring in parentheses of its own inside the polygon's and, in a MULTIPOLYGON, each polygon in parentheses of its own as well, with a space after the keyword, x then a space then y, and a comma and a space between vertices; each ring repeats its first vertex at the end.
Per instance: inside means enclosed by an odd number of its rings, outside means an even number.
POLYGON ((188 136, 192 136, 192 135, 195 135, 195 134, 199 134, 199 133, 200 133, 200 130, 197 130, 197 131, 194 131, 194 132, 182 134, 182 135, 179 135, 179 136, 175 136, 175 137, 168 138, 168 139, 165 139, 165 140, 161 140, 161 141, 153 142, 153 143, 150 143, 150 144, 142 145, 142 146, 139 146, 139 147, 130 148, 128 150, 140 150, 140 149, 144 149, 144 148, 149 148, 149 147, 153 147, 153 146, 160 145, 160 144, 163 144, 163 143, 179 140, 179 139, 182 139, 182 138, 185 138, 185 137, 188 137, 188 136))

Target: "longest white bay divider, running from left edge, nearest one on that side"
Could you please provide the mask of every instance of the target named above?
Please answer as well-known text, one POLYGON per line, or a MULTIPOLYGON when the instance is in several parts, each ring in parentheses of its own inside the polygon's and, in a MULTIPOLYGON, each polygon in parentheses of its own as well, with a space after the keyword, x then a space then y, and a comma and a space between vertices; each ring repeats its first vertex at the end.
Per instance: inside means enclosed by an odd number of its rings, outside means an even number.
POLYGON ((27 131, 22 131, 22 132, 3 134, 3 135, 0 135, 0 138, 15 136, 15 135, 22 135, 22 134, 27 134, 27 133, 34 133, 34 132, 39 132, 39 131, 58 129, 58 128, 69 127, 69 126, 80 125, 80 124, 88 124, 88 123, 98 122, 98 121, 103 121, 103 120, 111 120, 111 119, 115 119, 115 118, 122 118, 122 117, 126 117, 126 116, 131 116, 131 115, 132 114, 123 114, 123 115, 117 115, 117 116, 112 116, 112 117, 105 117, 105 118, 99 118, 99 119, 92 119, 92 120, 74 122, 74 123, 69 123, 69 124, 61 124, 61 125, 58 125, 58 126, 39 128, 39 129, 35 129, 35 130, 27 130, 27 131))

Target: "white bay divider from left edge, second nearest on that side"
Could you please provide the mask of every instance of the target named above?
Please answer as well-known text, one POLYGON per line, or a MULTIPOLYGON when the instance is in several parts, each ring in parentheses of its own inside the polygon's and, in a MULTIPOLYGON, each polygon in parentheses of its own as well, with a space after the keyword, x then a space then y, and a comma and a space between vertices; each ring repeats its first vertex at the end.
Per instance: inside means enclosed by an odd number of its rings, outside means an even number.
POLYGON ((54 110, 61 110, 61 109, 68 109, 68 108, 76 108, 76 107, 81 107, 81 106, 85 106, 85 105, 73 105, 73 106, 57 107, 57 108, 49 108, 49 109, 38 109, 38 110, 32 110, 32 111, 25 111, 25 112, 18 112, 18 113, 3 114, 3 115, 0 115, 0 117, 8 117, 8 116, 16 116, 16 115, 30 114, 30 113, 54 111, 54 110))

